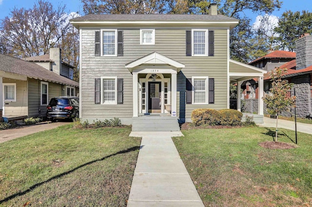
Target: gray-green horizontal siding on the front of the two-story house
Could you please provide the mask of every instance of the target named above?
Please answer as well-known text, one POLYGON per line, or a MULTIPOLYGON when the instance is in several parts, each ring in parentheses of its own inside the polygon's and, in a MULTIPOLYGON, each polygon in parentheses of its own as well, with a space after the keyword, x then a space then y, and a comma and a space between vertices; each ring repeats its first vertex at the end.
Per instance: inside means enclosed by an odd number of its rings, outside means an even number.
POLYGON ((95 30, 82 30, 81 44, 81 81, 80 101, 82 118, 131 118, 133 116, 132 74, 125 65, 138 58, 158 52, 185 65, 178 73, 177 116, 179 107, 190 118, 195 108, 227 108, 227 30, 215 30, 215 56, 192 57, 185 55, 185 29, 156 29, 155 45, 140 45, 139 30, 123 30, 123 54, 121 57, 95 56, 95 30), (124 102, 117 105, 95 104, 95 78, 117 76, 124 79, 124 102), (215 78, 215 104, 183 106, 185 97, 185 77, 209 76, 215 78))

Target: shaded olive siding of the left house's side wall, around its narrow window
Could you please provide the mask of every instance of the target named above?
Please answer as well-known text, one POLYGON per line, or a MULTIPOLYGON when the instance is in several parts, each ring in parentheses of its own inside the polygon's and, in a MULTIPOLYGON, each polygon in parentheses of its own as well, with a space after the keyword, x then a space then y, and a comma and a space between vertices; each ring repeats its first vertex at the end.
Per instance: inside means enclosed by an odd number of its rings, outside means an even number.
MULTIPOLYGON (((40 105, 41 81, 28 79, 28 117, 45 116, 47 105, 40 105)), ((62 95, 62 85, 48 82, 48 103, 51 98, 62 95)))

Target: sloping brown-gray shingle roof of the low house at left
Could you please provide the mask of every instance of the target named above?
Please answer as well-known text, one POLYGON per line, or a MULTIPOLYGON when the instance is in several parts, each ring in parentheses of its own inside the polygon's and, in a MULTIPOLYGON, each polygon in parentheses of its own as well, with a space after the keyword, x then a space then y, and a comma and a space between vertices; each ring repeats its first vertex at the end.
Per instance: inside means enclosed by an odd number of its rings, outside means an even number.
POLYGON ((37 65, 36 63, 27 62, 25 60, 10 57, 4 54, 0 54, 0 70, 68 86, 79 86, 78 82, 60 76, 53 71, 37 65))

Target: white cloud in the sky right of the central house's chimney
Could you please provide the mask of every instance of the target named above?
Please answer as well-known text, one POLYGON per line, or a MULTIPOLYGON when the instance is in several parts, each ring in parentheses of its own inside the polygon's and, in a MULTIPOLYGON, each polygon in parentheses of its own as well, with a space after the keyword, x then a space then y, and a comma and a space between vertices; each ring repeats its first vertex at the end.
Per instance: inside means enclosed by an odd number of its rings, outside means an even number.
POLYGON ((273 30, 275 27, 278 27, 278 17, 267 14, 257 16, 253 24, 253 29, 258 30, 260 27, 266 31, 266 35, 277 36, 274 34, 273 30))

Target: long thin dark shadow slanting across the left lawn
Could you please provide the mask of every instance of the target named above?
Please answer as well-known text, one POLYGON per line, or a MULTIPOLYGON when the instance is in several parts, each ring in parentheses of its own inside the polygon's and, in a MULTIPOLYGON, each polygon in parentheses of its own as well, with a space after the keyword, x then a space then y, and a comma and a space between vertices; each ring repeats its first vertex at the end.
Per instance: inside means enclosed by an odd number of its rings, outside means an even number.
POLYGON ((140 146, 131 147, 131 148, 128 148, 128 149, 126 149, 126 150, 119 151, 119 152, 117 152, 117 153, 115 153, 115 154, 107 155, 107 156, 104 156, 104 157, 102 157, 102 158, 100 158, 100 159, 96 159, 96 160, 87 162, 87 163, 85 163, 85 164, 83 164, 83 165, 80 165, 80 166, 74 168, 73 170, 70 170, 70 171, 67 171, 67 172, 58 174, 58 175, 56 175, 56 176, 54 176, 54 177, 51 177, 50 179, 48 179, 48 180, 46 180, 46 181, 43 181, 43 182, 41 182, 41 183, 37 183, 37 184, 35 184, 35 185, 29 187, 29 189, 27 189, 27 190, 25 190, 25 191, 18 192, 18 193, 15 193, 15 194, 13 194, 13 195, 10 195, 9 197, 6 197, 6 198, 4 198, 3 200, 0 200, 0 204, 2 204, 3 202, 7 202, 7 201, 9 201, 9 200, 11 200, 11 199, 13 199, 13 198, 15 198, 15 197, 17 197, 17 196, 24 195, 24 194, 28 193, 29 191, 34 190, 34 189, 36 189, 37 187, 41 186, 42 184, 45 184, 45 183, 50 182, 50 181, 52 181, 52 180, 58 179, 58 178, 60 178, 60 177, 62 177, 62 176, 64 176, 64 175, 67 175, 67 174, 69 174, 69 173, 73 173, 74 171, 78 170, 79 168, 82 168, 82 167, 87 166, 87 165, 91 165, 91 164, 93 164, 93 163, 95 163, 95 162, 98 162, 98 161, 102 161, 102 160, 107 159, 107 158, 109 158, 109 157, 111 157, 111 156, 115 156, 115 155, 119 155, 119 154, 124 154, 124 153, 129 153, 129 152, 132 152, 132 151, 136 151, 136 150, 141 149, 142 147, 143 147, 143 146, 141 146, 141 147, 140 147, 140 146))

